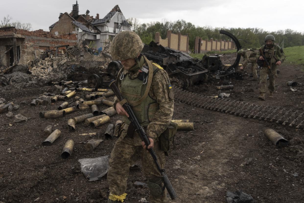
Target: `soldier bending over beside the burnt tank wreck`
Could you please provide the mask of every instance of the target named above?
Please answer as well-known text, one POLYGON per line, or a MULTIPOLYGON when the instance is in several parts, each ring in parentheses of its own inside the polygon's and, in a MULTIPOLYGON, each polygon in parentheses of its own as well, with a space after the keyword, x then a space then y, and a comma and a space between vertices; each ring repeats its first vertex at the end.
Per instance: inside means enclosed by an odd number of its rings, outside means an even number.
POLYGON ((247 49, 247 50, 239 50, 237 54, 241 55, 243 57, 243 63, 242 66, 240 67, 240 70, 246 69, 247 64, 251 63, 251 72, 252 77, 254 80, 257 80, 257 51, 252 50, 252 49, 247 49))

